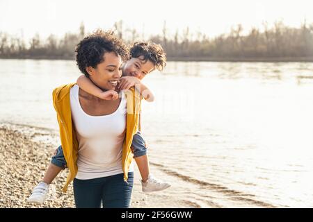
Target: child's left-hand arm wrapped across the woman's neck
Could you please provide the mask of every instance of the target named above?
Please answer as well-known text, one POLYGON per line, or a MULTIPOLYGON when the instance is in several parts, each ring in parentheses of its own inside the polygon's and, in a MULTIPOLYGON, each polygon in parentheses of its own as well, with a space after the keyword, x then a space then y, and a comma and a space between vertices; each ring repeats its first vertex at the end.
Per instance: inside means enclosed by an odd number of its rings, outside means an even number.
POLYGON ((85 75, 81 75, 79 76, 79 78, 77 78, 77 85, 79 85, 79 87, 81 87, 81 89, 83 89, 84 91, 94 96, 97 96, 100 99, 118 99, 117 92, 115 92, 114 90, 108 90, 106 92, 103 92, 102 89, 93 84, 93 82, 91 82, 91 80, 85 75))

